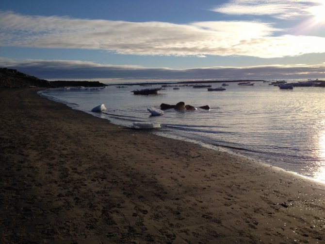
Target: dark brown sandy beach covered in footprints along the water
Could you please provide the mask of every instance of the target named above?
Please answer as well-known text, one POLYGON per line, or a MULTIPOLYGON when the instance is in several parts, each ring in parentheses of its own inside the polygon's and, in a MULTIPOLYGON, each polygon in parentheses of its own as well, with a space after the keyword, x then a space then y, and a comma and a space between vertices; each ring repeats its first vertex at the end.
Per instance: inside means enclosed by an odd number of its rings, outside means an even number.
POLYGON ((0 243, 324 243, 325 187, 0 89, 0 243))

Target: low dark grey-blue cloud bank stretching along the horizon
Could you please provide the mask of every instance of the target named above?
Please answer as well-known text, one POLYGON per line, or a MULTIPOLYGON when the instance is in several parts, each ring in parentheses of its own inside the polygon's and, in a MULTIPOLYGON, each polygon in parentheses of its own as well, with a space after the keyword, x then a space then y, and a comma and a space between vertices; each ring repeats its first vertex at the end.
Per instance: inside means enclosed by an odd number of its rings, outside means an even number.
POLYGON ((0 58, 7 67, 47 80, 239 80, 325 78, 322 65, 270 65, 253 67, 210 67, 195 69, 147 68, 141 66, 100 65, 77 60, 23 60, 0 58))

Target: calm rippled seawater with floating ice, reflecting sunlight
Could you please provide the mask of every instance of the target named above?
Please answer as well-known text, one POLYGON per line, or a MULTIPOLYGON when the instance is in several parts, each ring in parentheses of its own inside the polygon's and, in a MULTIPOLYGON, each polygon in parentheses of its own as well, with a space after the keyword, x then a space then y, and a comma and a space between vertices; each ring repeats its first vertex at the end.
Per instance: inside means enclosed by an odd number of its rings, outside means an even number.
MULTIPOLYGON (((255 86, 228 83, 225 91, 207 88, 166 87, 158 95, 133 95, 146 87, 101 90, 51 89, 42 94, 75 109, 107 118, 115 124, 161 123, 154 133, 196 140, 211 146, 240 152, 273 166, 325 181, 325 88, 295 87, 280 90, 268 83, 255 86), (165 110, 151 117, 147 107, 177 104, 210 105, 210 110, 165 110), (107 111, 91 109, 104 103, 107 111)), ((221 84, 211 84, 220 87, 221 84)), ((161 87, 159 85, 152 86, 161 87)))

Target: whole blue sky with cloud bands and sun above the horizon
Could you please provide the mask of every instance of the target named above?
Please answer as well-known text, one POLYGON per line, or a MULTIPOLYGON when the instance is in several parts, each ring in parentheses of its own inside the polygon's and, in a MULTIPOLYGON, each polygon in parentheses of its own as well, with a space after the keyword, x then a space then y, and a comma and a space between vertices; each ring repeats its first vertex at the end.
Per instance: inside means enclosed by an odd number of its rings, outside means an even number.
POLYGON ((325 78, 325 0, 1 0, 0 67, 47 80, 325 78))

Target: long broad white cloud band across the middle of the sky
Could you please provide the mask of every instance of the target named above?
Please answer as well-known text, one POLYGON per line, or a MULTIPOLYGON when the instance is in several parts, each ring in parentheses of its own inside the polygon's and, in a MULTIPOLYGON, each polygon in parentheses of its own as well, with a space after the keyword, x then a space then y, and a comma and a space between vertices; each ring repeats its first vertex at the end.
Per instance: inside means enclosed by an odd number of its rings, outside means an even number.
POLYGON ((325 52, 324 37, 273 36, 281 29, 258 21, 173 24, 23 16, 12 12, 0 12, 0 19, 0 46, 200 57, 272 58, 325 52))

